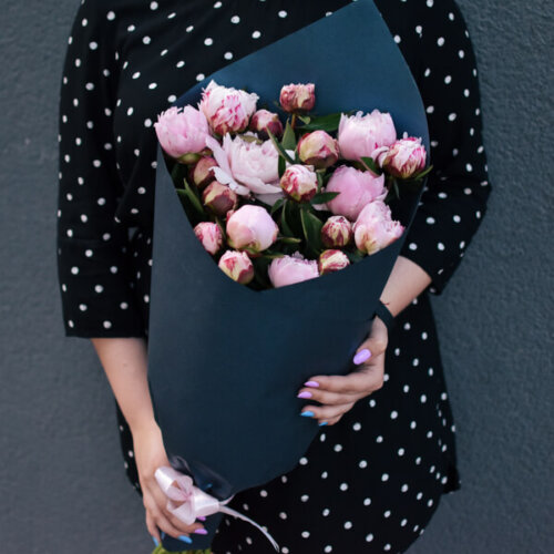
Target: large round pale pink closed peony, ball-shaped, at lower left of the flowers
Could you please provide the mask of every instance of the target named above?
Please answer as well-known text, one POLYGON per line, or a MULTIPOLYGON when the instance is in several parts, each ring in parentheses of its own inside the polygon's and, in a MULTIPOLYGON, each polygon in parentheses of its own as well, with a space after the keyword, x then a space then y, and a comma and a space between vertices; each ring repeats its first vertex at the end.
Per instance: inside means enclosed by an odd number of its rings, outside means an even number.
POLYGON ((245 204, 229 217, 226 232, 229 246, 256 254, 277 240, 279 227, 265 208, 245 204))

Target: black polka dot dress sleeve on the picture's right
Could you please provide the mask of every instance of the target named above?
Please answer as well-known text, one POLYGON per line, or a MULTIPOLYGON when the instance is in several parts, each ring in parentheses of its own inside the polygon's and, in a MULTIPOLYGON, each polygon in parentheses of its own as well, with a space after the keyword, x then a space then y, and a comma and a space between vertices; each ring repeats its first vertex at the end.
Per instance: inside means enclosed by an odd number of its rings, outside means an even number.
MULTIPOLYGON (((429 4, 429 2, 428 2, 429 4)), ((401 255, 432 278, 439 295, 459 266, 491 191, 483 146, 476 60, 454 1, 425 8, 414 75, 427 110, 433 171, 401 255)))

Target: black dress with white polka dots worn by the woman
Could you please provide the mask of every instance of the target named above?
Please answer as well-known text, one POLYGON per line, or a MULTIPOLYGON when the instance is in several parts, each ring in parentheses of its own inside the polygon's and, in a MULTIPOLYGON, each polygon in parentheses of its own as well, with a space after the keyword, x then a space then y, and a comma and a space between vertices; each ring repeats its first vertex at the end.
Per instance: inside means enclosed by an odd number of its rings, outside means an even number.
MULTIPOLYGON (((348 3, 83 0, 60 100, 58 267, 66 336, 147 339, 156 115, 217 69, 348 3)), ((443 291, 490 193, 475 57, 453 0, 376 4, 427 109, 434 172, 402 255, 432 284, 397 317, 383 387, 321 427, 289 473, 233 499, 284 554, 404 552, 441 495, 460 488, 429 295, 443 291)), ((117 417, 127 475, 141 492, 119 408, 117 417)), ((222 520, 213 551, 274 552, 233 517, 222 520)))

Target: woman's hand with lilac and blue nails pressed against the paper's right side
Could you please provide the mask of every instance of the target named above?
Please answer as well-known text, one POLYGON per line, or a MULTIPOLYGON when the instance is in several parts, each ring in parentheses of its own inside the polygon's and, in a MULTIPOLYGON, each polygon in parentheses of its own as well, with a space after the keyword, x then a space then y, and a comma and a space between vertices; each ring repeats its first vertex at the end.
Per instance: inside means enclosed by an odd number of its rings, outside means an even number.
POLYGON ((376 317, 368 338, 356 351, 353 361, 358 368, 346 376, 310 377, 298 398, 309 398, 322 406, 307 404, 300 414, 317 419, 320 425, 334 425, 358 400, 380 389, 387 343, 387 327, 376 317))

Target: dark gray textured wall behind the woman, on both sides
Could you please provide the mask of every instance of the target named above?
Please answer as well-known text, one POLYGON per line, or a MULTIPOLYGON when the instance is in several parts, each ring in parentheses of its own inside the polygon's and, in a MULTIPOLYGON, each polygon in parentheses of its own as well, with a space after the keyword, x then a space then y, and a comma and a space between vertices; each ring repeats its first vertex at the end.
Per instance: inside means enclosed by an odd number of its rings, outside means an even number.
MULTIPOLYGON (((554 552, 552 3, 459 3, 478 54, 494 191, 434 299, 462 490, 443 497, 412 552, 554 552)), ((64 338, 57 288, 57 102, 76 4, 1 3, 0 550, 147 553, 110 389, 90 342, 64 338)))

